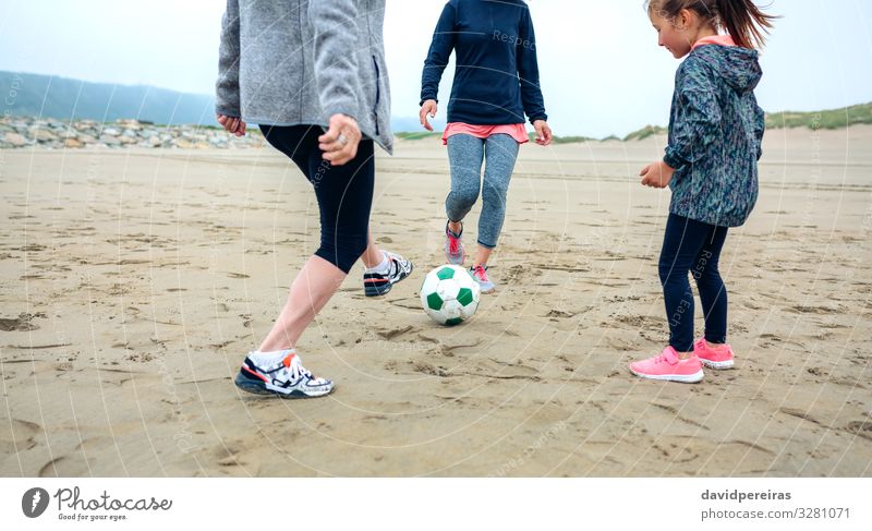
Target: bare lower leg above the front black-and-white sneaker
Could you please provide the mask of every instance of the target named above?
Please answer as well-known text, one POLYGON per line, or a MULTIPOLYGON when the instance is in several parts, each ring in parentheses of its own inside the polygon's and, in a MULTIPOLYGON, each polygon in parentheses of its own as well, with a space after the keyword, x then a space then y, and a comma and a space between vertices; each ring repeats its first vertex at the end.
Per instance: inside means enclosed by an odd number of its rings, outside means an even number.
POLYGON ((312 256, 296 275, 272 329, 261 343, 262 352, 292 349, 303 330, 336 293, 346 274, 320 256, 312 256))

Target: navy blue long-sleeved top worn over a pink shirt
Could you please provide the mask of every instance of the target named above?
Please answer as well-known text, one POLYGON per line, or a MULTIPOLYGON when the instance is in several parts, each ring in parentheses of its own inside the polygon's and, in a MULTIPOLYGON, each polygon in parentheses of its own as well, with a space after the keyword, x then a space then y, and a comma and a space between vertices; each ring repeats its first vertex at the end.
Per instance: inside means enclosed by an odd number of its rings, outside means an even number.
POLYGON ((424 62, 421 102, 437 99, 451 51, 457 70, 448 121, 473 125, 547 120, 538 85, 536 37, 521 0, 450 0, 424 62))

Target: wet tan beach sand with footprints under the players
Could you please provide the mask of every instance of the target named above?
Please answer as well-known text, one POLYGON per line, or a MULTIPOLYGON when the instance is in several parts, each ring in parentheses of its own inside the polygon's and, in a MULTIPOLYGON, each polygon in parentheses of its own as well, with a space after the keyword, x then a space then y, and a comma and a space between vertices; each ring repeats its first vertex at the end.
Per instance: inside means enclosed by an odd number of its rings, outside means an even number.
POLYGON ((455 328, 417 300, 445 149, 379 155, 373 232, 416 269, 372 300, 358 265, 305 333, 317 400, 232 384, 318 241, 277 152, 0 152, 0 474, 872 475, 872 128, 767 133, 722 256, 737 367, 695 385, 626 369, 668 338, 663 142, 524 146, 455 328))

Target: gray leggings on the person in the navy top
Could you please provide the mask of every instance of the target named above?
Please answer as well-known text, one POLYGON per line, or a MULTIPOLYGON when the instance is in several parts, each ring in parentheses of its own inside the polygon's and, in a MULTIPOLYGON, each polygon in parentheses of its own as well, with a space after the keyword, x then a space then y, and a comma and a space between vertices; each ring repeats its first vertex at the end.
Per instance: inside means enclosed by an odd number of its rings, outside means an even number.
POLYGON ((508 134, 477 138, 470 134, 448 137, 448 160, 451 165, 451 192, 445 200, 445 212, 451 221, 460 221, 479 200, 482 162, 487 157, 482 189, 482 215, 479 218, 479 244, 497 246, 506 218, 506 194, 518 158, 518 142, 508 134))

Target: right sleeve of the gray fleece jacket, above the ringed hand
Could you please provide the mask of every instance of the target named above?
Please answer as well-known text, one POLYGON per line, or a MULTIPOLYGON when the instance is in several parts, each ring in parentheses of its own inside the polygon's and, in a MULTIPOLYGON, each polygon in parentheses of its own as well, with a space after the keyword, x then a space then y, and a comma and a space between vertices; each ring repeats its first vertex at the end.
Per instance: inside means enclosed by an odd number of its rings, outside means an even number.
POLYGON ((315 33, 315 87, 325 121, 334 114, 358 117, 356 43, 358 3, 353 0, 308 2, 308 21, 315 33))

